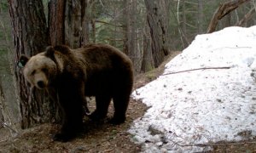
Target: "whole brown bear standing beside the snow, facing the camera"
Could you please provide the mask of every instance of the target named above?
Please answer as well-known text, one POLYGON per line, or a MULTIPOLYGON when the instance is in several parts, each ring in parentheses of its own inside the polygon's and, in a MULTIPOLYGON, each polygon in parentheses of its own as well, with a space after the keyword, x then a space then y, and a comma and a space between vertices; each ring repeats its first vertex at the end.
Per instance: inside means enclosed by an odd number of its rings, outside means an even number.
POLYGON ((85 96, 96 97, 96 111, 92 120, 107 116, 113 99, 111 122, 125 122, 132 84, 131 59, 107 44, 90 44, 71 49, 60 45, 48 47, 31 58, 20 56, 23 75, 32 87, 46 89, 62 113, 61 132, 54 139, 72 139, 83 126, 85 96))

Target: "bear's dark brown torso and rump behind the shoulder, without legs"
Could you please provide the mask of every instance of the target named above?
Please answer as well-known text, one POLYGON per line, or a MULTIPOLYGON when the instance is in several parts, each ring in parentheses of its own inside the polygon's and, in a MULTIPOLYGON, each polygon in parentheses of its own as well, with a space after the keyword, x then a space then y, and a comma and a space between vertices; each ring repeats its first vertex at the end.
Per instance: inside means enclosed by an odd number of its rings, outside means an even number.
POLYGON ((122 88, 133 82, 131 59, 119 49, 106 44, 90 44, 73 49, 86 66, 86 94, 95 95, 122 88))

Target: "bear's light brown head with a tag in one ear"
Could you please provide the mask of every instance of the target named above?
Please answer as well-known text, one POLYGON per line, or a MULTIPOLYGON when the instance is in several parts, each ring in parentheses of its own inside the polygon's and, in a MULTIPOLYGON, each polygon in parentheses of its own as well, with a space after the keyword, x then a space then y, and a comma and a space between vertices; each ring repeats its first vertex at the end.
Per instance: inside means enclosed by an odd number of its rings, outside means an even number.
POLYGON ((48 47, 45 52, 32 57, 27 57, 24 54, 20 55, 18 65, 23 67, 23 75, 26 81, 32 87, 39 89, 49 87, 58 71, 58 65, 55 62, 55 49, 53 47, 48 47))

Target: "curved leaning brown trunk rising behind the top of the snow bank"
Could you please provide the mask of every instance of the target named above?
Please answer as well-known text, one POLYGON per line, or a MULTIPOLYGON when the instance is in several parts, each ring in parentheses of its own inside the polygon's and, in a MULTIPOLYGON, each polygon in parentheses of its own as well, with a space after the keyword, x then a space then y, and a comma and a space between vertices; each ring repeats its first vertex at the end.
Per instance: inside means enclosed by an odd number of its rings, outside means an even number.
POLYGON ((215 31, 216 26, 218 25, 218 20, 221 20, 226 14, 230 14, 230 12, 238 8, 242 3, 247 3, 249 1, 250 0, 236 0, 221 4, 212 16, 207 33, 215 31))

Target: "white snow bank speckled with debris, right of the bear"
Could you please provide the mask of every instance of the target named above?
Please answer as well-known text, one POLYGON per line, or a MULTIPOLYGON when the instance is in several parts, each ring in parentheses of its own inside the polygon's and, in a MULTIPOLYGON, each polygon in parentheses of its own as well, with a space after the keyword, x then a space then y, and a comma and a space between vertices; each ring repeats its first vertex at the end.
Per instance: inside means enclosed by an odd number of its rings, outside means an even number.
POLYGON ((132 94, 150 106, 129 130, 144 152, 202 151, 210 148, 198 144, 256 136, 256 26, 195 37, 164 74, 175 71, 186 72, 132 94), (187 71, 198 68, 212 69, 187 71))

